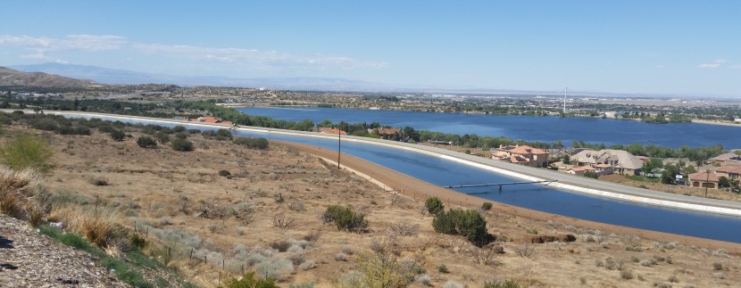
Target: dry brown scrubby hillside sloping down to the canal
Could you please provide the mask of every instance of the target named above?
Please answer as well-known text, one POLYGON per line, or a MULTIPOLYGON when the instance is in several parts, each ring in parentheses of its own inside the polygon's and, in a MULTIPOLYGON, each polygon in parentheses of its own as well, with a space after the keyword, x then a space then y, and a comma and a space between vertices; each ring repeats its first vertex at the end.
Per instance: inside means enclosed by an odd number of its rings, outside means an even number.
POLYGON ((89 135, 60 135, 46 120, 39 125, 40 117, 15 117, 4 119, 3 143, 25 133, 54 147, 54 169, 43 184, 62 204, 48 221, 84 213, 111 219, 145 238, 153 259, 199 286, 248 271, 285 287, 354 286, 385 276, 413 287, 730 287, 741 281, 737 251, 498 210, 476 210, 496 237, 479 248, 436 233, 426 199, 389 192, 285 144, 250 146, 224 133, 86 120, 65 125, 91 127, 89 135), (156 146, 141 147, 141 136, 156 146), (193 150, 174 151, 178 138, 193 150), (348 232, 324 223, 330 205, 364 215, 367 228, 348 232))

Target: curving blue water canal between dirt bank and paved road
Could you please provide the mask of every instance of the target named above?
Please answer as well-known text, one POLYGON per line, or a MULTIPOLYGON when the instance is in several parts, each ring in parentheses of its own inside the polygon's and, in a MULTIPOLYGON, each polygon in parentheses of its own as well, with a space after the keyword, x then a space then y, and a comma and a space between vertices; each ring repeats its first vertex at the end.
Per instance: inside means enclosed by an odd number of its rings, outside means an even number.
MULTIPOLYGON (((204 125, 188 125, 169 119, 133 119, 127 116, 62 113, 68 117, 118 119, 131 123, 162 126, 183 125, 204 129, 204 125)), ((215 129, 215 128, 214 128, 215 129)), ((300 144, 311 144, 327 149, 337 149, 337 139, 313 136, 287 135, 269 129, 236 131, 238 136, 258 136, 300 144)), ((342 152, 394 169, 411 177, 435 185, 465 185, 504 183, 517 181, 494 172, 444 160, 411 149, 394 148, 376 144, 342 142, 342 152)), ((477 197, 513 206, 540 210, 571 218, 582 218, 618 226, 628 226, 659 232, 689 235, 732 243, 741 243, 741 218, 709 213, 692 212, 622 202, 579 193, 570 193, 543 185, 512 185, 500 193, 496 187, 459 189, 462 193, 480 193, 477 197)))

